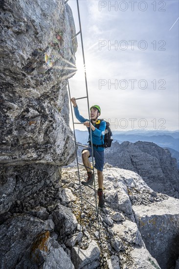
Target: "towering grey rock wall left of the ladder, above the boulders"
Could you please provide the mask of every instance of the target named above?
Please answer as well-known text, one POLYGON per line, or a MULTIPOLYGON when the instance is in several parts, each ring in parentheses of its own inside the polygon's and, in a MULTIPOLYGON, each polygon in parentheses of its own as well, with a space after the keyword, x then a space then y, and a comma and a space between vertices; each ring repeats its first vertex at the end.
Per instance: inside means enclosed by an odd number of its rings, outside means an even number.
POLYGON ((0 214, 60 178, 75 157, 67 78, 77 40, 65 1, 2 1, 0 214), (60 166, 59 166, 60 165, 60 166))

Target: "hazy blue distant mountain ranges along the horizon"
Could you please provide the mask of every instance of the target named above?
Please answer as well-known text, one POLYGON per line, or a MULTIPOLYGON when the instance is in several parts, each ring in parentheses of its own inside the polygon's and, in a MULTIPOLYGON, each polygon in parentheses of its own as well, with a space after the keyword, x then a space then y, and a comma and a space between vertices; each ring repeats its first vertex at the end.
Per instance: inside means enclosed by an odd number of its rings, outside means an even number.
MULTIPOLYGON (((179 169, 179 131, 112 131, 113 140, 121 144, 124 141, 137 142, 146 141, 154 142, 162 148, 170 151, 172 157, 177 159, 179 169)), ((89 140, 88 131, 75 130, 76 140, 82 144, 87 144, 89 140)))

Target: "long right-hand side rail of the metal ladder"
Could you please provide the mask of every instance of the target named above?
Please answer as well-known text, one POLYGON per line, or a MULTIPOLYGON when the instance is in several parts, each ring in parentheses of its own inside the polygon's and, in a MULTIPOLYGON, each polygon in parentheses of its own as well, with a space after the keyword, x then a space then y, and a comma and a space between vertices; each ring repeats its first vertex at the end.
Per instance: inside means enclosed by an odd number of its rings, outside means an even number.
MULTIPOLYGON (((84 64, 84 71, 85 71, 85 84, 86 84, 86 91, 87 91, 88 113, 89 113, 89 121, 90 121, 90 105, 89 105, 89 96, 88 96, 87 73, 86 73, 86 66, 85 66, 85 53, 84 53, 84 47, 83 47, 83 36, 82 36, 82 28, 81 28, 81 20, 80 20, 80 10, 79 10, 78 0, 76 0, 76 1, 77 1, 77 9, 78 9, 78 20, 79 20, 79 26, 80 26, 80 36, 81 36, 81 45, 82 45, 82 53, 83 53, 83 64, 84 64)), ((93 156, 93 146, 92 146, 91 125, 90 125, 90 139, 91 139, 92 167, 93 167, 93 179, 94 179, 94 160, 93 160, 94 156, 93 156)), ((96 190, 95 179, 94 179, 94 189, 96 190)), ((98 215, 96 191, 95 191, 95 203, 96 203, 96 213, 98 215)))

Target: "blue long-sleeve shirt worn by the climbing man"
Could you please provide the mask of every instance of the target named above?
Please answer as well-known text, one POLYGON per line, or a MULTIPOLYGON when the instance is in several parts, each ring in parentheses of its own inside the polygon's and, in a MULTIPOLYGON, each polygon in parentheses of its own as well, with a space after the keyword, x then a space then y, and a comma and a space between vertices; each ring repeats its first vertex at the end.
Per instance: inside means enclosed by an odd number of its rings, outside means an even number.
MULTIPOLYGON (((80 121, 80 122, 85 122, 85 121, 89 121, 89 119, 84 118, 83 116, 80 115, 80 112, 78 110, 78 106, 73 107, 74 108, 74 113, 76 118, 80 121)), ((95 127, 95 124, 94 124, 95 127)), ((90 127, 87 127, 89 134, 90 134, 90 127)), ((102 142, 104 143, 104 135, 105 135, 105 129, 106 129, 106 122, 104 120, 102 120, 100 122, 100 126, 99 129, 95 128, 94 131, 92 131, 91 129, 91 135, 92 135, 92 143, 95 145, 101 145, 102 142), (103 141, 101 139, 101 135, 103 136, 103 141)), ((96 149, 96 147, 94 147, 96 149)), ((104 151, 103 147, 98 147, 96 149, 97 151, 104 151)))

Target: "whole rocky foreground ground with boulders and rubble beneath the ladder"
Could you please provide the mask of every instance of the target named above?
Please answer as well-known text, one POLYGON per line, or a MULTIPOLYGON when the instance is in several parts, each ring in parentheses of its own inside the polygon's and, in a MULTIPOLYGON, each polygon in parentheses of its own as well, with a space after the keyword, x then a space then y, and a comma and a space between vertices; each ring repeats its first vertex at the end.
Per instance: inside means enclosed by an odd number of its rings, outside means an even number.
POLYGON ((60 180, 13 203, 0 216, 1 268, 177 269, 179 200, 109 164, 104 193, 97 216, 94 190, 64 167, 60 180))

